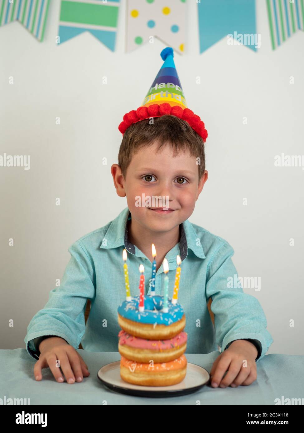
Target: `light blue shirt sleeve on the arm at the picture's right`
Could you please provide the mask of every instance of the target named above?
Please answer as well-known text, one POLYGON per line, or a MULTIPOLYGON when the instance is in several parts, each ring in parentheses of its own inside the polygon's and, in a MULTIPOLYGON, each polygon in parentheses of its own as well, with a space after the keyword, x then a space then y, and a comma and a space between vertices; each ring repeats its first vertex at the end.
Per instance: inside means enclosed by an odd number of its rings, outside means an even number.
POLYGON ((234 340, 257 340, 261 346, 257 361, 268 351, 273 339, 268 332, 265 313, 258 299, 242 288, 230 288, 229 277, 235 281, 237 271, 232 262, 234 250, 224 242, 214 252, 207 267, 206 300, 212 298, 216 343, 223 352, 234 340))

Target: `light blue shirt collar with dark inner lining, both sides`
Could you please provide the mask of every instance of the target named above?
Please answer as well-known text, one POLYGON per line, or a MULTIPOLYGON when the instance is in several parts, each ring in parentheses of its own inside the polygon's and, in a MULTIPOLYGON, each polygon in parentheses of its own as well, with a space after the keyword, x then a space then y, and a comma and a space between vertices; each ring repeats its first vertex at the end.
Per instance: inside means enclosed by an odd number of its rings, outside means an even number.
MULTIPOLYGON (((124 245, 127 252, 135 254, 135 246, 128 239, 127 221, 130 219, 130 210, 126 207, 111 221, 100 248, 117 248, 124 245)), ((180 259, 182 261, 186 259, 188 249, 191 249, 199 259, 206 258, 200 238, 190 221, 186 220, 182 223, 180 231, 180 259)))

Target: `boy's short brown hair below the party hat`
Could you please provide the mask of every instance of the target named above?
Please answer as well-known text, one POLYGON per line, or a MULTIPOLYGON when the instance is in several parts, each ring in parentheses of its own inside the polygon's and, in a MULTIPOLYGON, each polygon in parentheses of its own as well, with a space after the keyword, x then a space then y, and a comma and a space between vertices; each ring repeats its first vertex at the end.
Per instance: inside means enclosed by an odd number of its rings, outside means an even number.
POLYGON ((158 142, 157 152, 163 145, 169 145, 173 150, 173 156, 180 151, 190 152, 198 160, 199 180, 205 171, 205 149, 203 139, 192 129, 186 120, 177 116, 164 115, 154 117, 154 123, 150 119, 133 123, 124 132, 118 152, 118 165, 122 175, 126 178, 127 168, 141 147, 153 145, 158 142))

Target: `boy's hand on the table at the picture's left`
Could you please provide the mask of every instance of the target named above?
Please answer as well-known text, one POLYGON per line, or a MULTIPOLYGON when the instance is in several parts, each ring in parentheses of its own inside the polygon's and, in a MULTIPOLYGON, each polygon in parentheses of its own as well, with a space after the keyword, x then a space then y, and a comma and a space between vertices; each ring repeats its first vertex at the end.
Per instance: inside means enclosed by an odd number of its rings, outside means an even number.
POLYGON ((34 365, 34 376, 37 381, 42 379, 42 368, 49 367, 57 382, 64 382, 62 373, 68 383, 81 382, 83 377, 87 377, 88 366, 82 357, 60 337, 49 337, 39 344, 40 356, 34 365), (58 365, 60 360, 60 368, 58 365))

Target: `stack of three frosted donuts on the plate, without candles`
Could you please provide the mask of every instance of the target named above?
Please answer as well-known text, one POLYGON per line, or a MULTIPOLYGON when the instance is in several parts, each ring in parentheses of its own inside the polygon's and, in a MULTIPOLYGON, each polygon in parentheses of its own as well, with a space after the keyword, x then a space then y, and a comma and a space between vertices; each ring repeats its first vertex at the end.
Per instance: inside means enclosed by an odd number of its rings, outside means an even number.
POLYGON ((132 297, 118 307, 121 378, 136 385, 177 384, 187 368, 183 307, 169 298, 168 312, 163 312, 163 296, 144 295, 140 311, 139 300, 140 296, 132 297))

